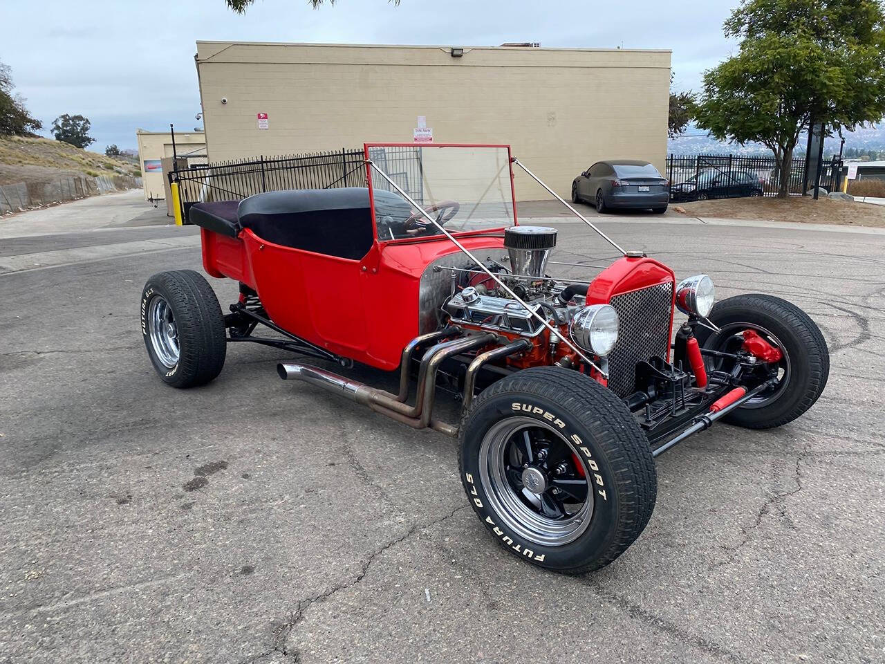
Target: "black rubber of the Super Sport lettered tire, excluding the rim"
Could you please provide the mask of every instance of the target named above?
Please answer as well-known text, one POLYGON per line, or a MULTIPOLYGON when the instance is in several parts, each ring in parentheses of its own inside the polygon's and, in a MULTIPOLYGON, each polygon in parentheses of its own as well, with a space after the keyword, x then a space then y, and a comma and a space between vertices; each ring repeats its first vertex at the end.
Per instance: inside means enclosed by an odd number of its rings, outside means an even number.
POLYGON ((620 398, 583 374, 535 367, 493 383, 463 414, 459 443, 460 476, 473 511, 498 544, 540 567, 579 574, 607 565, 639 537, 654 508, 657 476, 648 441, 620 398), (512 417, 558 431, 588 471, 593 512, 571 542, 541 544, 520 535, 488 499, 479 473, 481 440, 512 417))

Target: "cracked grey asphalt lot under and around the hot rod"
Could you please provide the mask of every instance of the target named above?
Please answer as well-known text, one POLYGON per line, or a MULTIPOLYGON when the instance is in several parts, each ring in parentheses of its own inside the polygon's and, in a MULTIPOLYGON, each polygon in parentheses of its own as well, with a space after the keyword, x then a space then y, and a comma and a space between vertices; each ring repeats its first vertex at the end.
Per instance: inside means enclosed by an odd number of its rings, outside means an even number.
MULTIPOLYGON (((454 440, 281 382, 285 353, 162 384, 140 290, 201 268, 194 228, 131 194, 0 220, 0 662, 885 661, 885 235, 596 221, 802 306, 832 369, 801 419, 660 457, 643 536, 568 577, 489 537, 454 440)), ((611 256, 558 228, 559 259, 611 256)))

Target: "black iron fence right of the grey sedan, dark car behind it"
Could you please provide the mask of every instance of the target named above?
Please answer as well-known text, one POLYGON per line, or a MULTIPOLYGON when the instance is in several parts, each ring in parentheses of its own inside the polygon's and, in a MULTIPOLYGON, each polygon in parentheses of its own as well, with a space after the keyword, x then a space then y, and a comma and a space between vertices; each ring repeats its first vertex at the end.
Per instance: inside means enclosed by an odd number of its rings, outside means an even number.
MULTIPOLYGON (((673 201, 776 196, 781 174, 773 157, 735 155, 670 155, 666 177, 673 201)), ((842 161, 834 156, 821 168, 820 186, 827 191, 841 184, 842 161)), ((805 159, 794 158, 787 176, 787 191, 802 194, 814 186, 814 174, 806 177, 805 159)))

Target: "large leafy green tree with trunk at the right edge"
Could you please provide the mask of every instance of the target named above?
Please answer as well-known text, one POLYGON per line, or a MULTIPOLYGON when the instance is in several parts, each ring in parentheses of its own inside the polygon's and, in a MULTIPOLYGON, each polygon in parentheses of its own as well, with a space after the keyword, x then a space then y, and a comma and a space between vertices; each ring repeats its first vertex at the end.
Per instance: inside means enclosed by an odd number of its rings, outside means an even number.
POLYGON ((778 196, 799 135, 885 115, 885 17, 879 0, 743 0, 725 22, 735 56, 704 73, 696 124, 720 140, 764 143, 778 196))

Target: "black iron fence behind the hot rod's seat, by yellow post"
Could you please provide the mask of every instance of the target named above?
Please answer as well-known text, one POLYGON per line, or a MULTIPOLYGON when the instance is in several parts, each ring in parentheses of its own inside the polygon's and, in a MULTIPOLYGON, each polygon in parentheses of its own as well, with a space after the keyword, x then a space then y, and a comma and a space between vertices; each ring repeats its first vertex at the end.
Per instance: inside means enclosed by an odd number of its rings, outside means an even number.
MULTIPOLYGON (((379 149, 370 157, 398 186, 417 202, 423 202, 419 147, 379 149)), ((366 187, 366 156, 361 148, 344 148, 284 157, 234 159, 175 169, 169 178, 178 182, 181 212, 187 220, 190 206, 195 203, 240 200, 282 189, 366 187)), ((376 178, 375 186, 389 188, 380 178, 376 178)))

